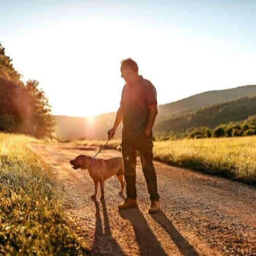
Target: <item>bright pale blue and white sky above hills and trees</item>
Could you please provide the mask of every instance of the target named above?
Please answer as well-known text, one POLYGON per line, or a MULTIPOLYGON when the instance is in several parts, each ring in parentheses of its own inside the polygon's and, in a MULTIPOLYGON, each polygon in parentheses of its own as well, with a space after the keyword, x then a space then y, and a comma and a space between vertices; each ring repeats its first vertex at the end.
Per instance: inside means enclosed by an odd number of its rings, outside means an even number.
POLYGON ((52 113, 116 111, 132 57, 158 104, 256 84, 256 1, 0 0, 0 41, 52 113))

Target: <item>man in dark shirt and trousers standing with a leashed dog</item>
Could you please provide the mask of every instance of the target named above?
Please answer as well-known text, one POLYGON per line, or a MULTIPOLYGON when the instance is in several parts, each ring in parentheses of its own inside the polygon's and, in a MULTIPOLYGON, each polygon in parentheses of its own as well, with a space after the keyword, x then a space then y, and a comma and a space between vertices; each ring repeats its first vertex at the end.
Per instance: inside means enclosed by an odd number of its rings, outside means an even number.
POLYGON ((138 207, 136 191, 136 158, 140 155, 147 191, 150 194, 151 206, 148 212, 160 210, 157 193, 157 177, 153 165, 152 127, 157 116, 157 93, 153 84, 138 74, 138 65, 132 59, 121 61, 121 77, 125 80, 120 107, 116 114, 113 128, 108 132, 112 139, 121 121, 122 157, 124 178, 126 181, 126 199, 118 205, 119 209, 138 207))

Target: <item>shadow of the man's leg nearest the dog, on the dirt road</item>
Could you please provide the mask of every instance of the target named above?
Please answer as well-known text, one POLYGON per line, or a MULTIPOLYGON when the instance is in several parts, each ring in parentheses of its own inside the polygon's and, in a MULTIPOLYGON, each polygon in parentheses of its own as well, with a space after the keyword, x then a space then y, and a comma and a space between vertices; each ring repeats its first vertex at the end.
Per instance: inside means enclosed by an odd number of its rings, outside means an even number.
POLYGON ((119 214, 123 219, 132 223, 140 255, 167 255, 138 208, 119 210, 119 214))

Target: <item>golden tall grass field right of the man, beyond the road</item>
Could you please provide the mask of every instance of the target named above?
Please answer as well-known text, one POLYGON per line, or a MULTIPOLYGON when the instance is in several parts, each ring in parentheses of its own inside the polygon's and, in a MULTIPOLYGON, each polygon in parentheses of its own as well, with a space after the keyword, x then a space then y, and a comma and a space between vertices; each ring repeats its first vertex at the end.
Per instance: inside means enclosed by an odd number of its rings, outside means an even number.
POLYGON ((256 184, 256 136, 154 143, 156 160, 256 184))

